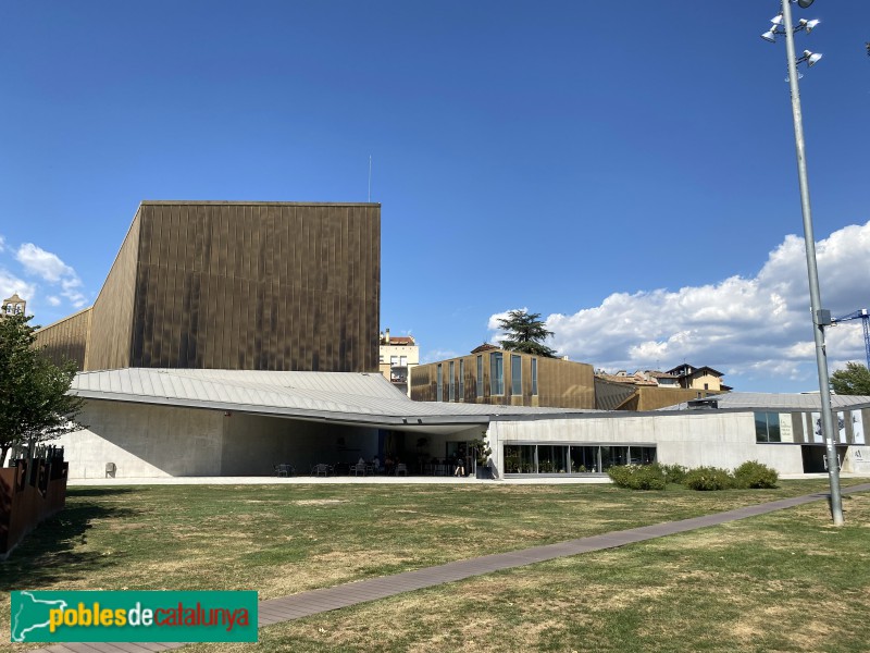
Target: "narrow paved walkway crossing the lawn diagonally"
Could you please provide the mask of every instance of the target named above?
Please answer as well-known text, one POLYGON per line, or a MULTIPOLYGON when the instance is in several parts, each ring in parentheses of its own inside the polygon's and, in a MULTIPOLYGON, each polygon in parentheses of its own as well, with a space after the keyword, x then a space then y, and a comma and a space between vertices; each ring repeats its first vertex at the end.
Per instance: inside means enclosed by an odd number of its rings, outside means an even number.
MULTIPOLYGON (((843 490, 843 494, 867 491, 870 491, 870 483, 846 488, 843 490)), ((282 599, 270 599, 269 601, 260 602, 259 625, 262 628, 263 626, 270 626, 281 621, 291 621, 294 619, 300 619, 302 617, 308 617, 319 613, 348 607, 350 605, 356 605, 357 603, 377 601, 378 599, 386 599, 387 596, 394 596, 403 592, 422 590, 424 588, 431 588, 445 582, 463 580, 465 578, 481 576, 492 571, 512 569, 514 567, 522 567, 524 565, 531 565, 534 563, 543 563, 569 555, 588 553, 591 551, 616 549, 618 546, 624 546, 625 544, 632 544, 634 542, 643 542, 645 540, 673 535, 698 528, 718 526, 720 523, 735 521, 737 519, 745 519, 746 517, 755 517, 757 515, 766 515, 775 510, 793 508, 795 506, 800 506, 816 501, 826 500, 828 497, 828 493, 822 492, 806 494, 804 496, 783 498, 780 501, 746 506, 744 508, 737 508, 724 513, 693 517, 692 519, 667 521, 663 523, 655 523, 652 526, 632 528, 624 531, 604 533, 601 535, 569 540, 567 542, 559 542, 557 544, 546 544, 544 546, 533 546, 532 549, 511 551, 509 553, 485 555, 468 560, 447 563, 446 565, 439 565, 437 567, 427 567, 424 569, 418 569, 415 571, 396 574, 394 576, 384 576, 381 578, 372 578, 370 580, 349 582, 321 590, 311 590, 309 592, 301 592, 299 594, 293 594, 282 599)), ((140 653, 146 651, 166 651, 170 649, 179 649, 184 645, 185 644, 178 642, 139 644, 69 643, 53 644, 47 649, 38 649, 34 651, 34 653, 140 653)))

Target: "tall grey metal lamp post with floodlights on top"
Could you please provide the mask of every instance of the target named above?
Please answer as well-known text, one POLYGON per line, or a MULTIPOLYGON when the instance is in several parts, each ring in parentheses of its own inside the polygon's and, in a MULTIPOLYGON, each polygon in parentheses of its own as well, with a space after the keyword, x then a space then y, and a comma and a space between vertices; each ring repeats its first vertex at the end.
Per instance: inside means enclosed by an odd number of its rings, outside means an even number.
MULTIPOLYGON (((804 147, 804 124, 800 114, 800 91, 797 86, 797 64, 806 61, 815 64, 820 54, 808 50, 800 59, 795 57, 795 29, 792 24, 792 7, 794 0, 782 0, 782 27, 785 34, 785 50, 788 59, 788 83, 792 88, 792 116, 795 124, 795 150, 797 151, 797 178, 800 185, 800 209, 804 213, 804 244, 807 250, 807 274, 809 276, 809 299, 812 311, 812 330, 816 337, 816 365, 819 370, 819 398, 821 399, 822 438, 828 457, 828 478, 831 485, 831 515, 834 526, 843 525, 843 500, 840 493, 840 464, 834 446, 834 420, 831 411, 831 386, 828 377, 828 356, 824 349, 824 328, 831 323, 831 311, 821 308, 819 293, 819 270, 816 267, 816 238, 812 234, 812 211, 809 204, 809 182, 807 181, 807 158, 804 147)), ((801 8, 812 4, 812 0, 798 0, 801 8)), ((809 23, 801 21, 798 29, 807 29, 809 23)), ((815 26, 809 27, 811 29, 815 26)), ((776 33, 776 21, 771 30, 776 33)), ((768 33, 771 34, 771 33, 768 33)), ((767 35, 762 35, 767 38, 767 35)))

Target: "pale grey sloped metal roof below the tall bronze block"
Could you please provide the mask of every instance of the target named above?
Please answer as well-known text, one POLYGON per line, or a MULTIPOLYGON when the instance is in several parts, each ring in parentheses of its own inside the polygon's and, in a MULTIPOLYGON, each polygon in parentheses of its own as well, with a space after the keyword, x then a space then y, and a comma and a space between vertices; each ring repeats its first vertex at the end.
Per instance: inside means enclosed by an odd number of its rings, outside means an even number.
POLYGON ((89 399, 385 424, 471 424, 500 415, 582 412, 412 402, 378 373, 125 368, 79 372, 71 391, 89 399))

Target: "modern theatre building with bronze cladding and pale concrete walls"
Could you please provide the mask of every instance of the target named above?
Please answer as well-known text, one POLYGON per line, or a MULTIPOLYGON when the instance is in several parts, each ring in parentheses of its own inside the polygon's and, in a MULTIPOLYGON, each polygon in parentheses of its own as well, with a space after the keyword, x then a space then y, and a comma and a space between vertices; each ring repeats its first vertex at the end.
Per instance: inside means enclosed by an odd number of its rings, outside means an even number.
MULTIPOLYGON (((377 204, 141 202, 94 306, 37 334, 82 370, 87 428, 60 440, 71 478, 308 473, 387 456, 449 473, 457 458, 473 467, 480 439, 497 478, 824 464, 812 396, 595 410, 589 366, 490 348, 415 369, 413 402, 378 372, 380 258, 377 204)), ((844 470, 870 471, 870 397, 835 406, 844 470)))

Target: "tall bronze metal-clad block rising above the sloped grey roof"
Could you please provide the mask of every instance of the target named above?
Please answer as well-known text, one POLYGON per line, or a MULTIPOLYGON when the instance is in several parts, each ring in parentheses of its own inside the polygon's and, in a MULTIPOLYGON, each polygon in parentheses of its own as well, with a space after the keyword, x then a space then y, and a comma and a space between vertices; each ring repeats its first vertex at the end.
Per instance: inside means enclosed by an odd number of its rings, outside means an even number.
POLYGON ((85 369, 377 370, 381 206, 144 201, 85 369))

